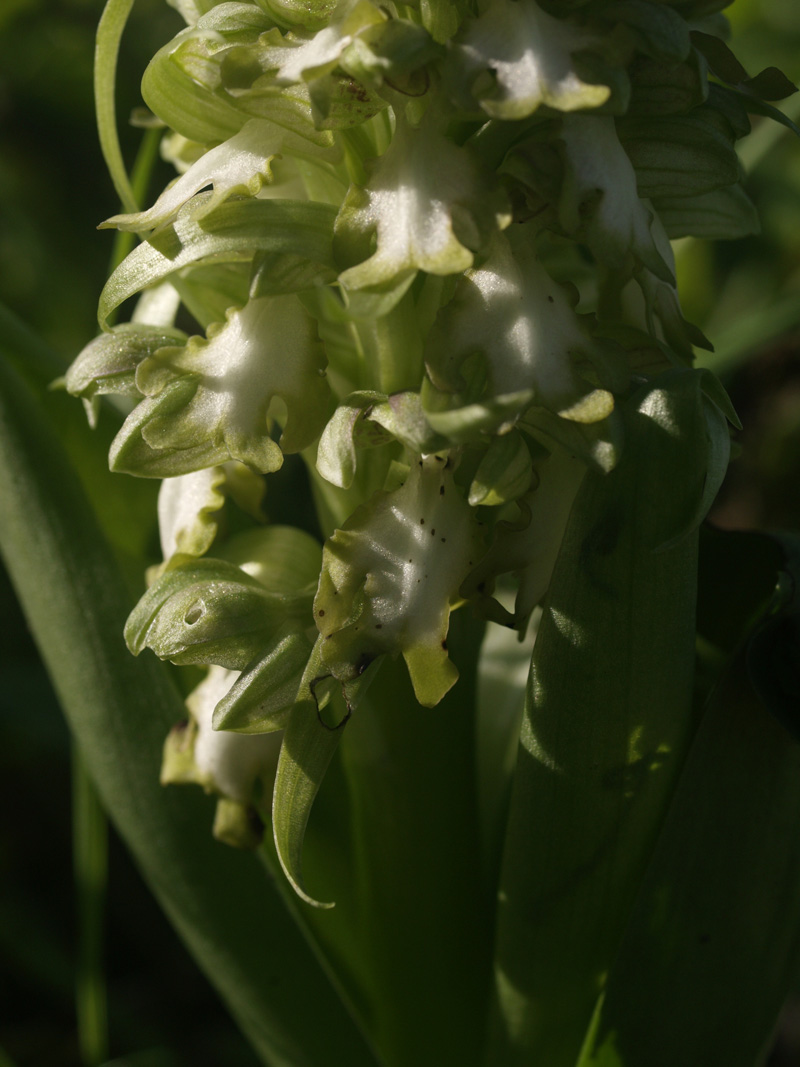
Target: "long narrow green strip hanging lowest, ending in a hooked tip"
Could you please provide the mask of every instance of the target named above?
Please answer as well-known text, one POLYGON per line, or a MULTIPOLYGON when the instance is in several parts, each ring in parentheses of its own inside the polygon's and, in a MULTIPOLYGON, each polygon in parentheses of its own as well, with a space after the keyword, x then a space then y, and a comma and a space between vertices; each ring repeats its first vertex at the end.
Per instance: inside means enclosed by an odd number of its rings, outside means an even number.
POLYGON ((322 685, 331 676, 321 656, 323 640, 322 637, 317 639, 284 732, 272 799, 272 825, 277 856, 294 892, 313 907, 332 908, 332 903, 316 901, 305 890, 303 839, 311 806, 342 731, 373 681, 380 663, 373 663, 348 683, 334 685, 323 698, 322 685), (331 722, 322 717, 325 702, 333 705, 327 715, 331 722))

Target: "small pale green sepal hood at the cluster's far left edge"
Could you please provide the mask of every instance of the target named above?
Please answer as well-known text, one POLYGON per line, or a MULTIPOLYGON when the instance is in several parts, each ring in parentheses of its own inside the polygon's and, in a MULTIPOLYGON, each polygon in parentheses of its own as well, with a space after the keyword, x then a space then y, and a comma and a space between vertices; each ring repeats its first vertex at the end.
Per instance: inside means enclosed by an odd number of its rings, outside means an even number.
POLYGON ((98 398, 103 394, 137 397, 135 372, 139 364, 160 348, 186 344, 180 330, 126 322, 110 333, 100 334, 76 356, 64 378, 67 393, 80 397, 92 426, 97 419, 98 398))

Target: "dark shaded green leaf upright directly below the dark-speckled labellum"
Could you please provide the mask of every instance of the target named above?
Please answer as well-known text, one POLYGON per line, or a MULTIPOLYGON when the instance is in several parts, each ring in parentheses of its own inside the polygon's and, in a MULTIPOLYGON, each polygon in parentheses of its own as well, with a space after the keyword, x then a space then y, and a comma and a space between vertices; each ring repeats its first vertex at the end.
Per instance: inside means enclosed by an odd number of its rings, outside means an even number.
POLYGON ((459 684, 432 711, 417 703, 404 665, 387 658, 339 748, 357 843, 353 928, 387 1063, 481 1063, 493 917, 475 774, 482 628, 453 612, 459 684))

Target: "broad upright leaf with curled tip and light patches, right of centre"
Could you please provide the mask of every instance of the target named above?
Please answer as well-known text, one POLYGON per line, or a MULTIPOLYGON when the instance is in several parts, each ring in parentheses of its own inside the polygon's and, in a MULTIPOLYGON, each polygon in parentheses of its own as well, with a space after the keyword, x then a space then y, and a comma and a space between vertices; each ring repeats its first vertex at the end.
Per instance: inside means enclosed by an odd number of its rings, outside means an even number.
POLYGON ((544 605, 499 887, 491 1064, 575 1064, 691 737, 697 536, 653 552, 681 525, 686 455, 645 413, 651 389, 627 413, 619 464, 582 481, 544 605))

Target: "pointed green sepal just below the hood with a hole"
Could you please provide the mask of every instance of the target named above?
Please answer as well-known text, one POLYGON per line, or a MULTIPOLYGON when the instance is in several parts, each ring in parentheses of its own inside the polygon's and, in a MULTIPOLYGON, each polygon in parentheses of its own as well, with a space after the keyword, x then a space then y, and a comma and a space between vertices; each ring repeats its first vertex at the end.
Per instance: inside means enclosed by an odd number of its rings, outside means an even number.
POLYGON ((297 630, 278 633, 266 655, 251 663, 217 704, 214 730, 243 734, 283 730, 311 649, 311 641, 297 630))

